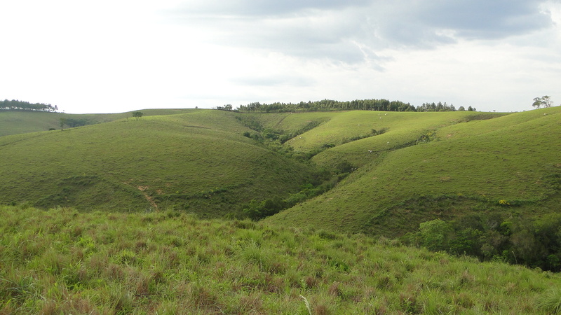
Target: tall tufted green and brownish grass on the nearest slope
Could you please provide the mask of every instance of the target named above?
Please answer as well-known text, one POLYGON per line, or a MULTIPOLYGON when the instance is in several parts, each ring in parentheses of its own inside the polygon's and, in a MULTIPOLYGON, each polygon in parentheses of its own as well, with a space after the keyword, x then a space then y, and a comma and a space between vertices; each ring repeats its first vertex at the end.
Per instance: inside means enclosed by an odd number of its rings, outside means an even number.
POLYGON ((177 211, 0 207, 1 314, 550 314, 561 277, 177 211))

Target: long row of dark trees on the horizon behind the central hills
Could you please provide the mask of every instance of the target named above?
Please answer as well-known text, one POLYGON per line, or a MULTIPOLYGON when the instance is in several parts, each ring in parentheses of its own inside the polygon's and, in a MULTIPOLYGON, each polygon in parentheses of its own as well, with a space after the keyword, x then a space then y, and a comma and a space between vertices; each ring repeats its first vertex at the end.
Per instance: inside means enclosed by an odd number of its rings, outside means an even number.
MULTIPOLYGON (((219 107, 218 109, 231 109, 231 105, 219 107)), ((457 111, 454 105, 438 103, 423 103, 421 106, 415 107, 409 103, 400 101, 389 101, 388 99, 356 99, 354 101, 339 102, 331 99, 323 99, 316 102, 299 102, 262 104, 253 102, 248 105, 240 105, 238 111, 243 112, 266 112, 266 113, 282 113, 294 111, 332 111, 332 110, 360 110, 360 111, 457 111)), ((458 111, 464 111, 464 107, 460 107, 458 111)), ((471 106, 468 111, 475 111, 471 106)))

